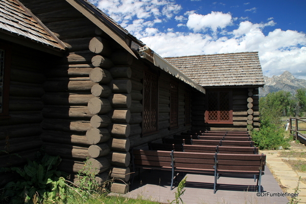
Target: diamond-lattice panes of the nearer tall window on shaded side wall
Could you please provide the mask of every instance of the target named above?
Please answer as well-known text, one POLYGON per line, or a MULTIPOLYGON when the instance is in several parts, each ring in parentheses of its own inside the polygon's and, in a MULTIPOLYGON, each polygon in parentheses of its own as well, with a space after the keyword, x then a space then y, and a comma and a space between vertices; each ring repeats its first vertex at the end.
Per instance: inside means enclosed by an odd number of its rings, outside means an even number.
POLYGON ((157 76, 144 74, 143 130, 144 133, 157 130, 157 76))

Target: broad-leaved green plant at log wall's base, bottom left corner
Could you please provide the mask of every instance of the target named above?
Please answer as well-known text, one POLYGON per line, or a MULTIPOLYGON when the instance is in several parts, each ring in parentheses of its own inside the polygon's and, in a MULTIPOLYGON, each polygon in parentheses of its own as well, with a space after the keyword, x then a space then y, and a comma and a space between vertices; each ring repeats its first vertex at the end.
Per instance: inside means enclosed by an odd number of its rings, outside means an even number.
POLYGON ((4 187, 2 200, 9 203, 32 203, 43 200, 64 200, 65 179, 63 173, 56 170, 59 156, 44 154, 37 161, 28 160, 23 168, 11 167, 1 171, 13 171, 21 178, 4 187))

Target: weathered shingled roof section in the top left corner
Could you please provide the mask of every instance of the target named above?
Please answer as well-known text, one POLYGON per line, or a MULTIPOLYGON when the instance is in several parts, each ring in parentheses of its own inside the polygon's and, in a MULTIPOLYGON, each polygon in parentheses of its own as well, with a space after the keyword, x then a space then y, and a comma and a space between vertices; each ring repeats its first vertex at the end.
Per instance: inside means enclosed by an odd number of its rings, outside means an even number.
POLYGON ((65 45, 16 0, 0 0, 0 32, 64 50, 65 45))

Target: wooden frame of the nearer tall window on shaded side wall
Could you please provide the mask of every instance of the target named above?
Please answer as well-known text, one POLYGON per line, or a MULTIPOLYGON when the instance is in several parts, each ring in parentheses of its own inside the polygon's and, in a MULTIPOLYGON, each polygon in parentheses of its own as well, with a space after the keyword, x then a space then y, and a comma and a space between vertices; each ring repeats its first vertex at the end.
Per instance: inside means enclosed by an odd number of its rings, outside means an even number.
POLYGON ((147 136, 149 136, 149 135, 152 135, 152 134, 155 134, 155 133, 158 133, 158 73, 155 73, 155 72, 152 72, 151 70, 149 70, 149 69, 146 69, 145 71, 144 71, 144 79, 143 79, 143 113, 142 113, 142 116, 143 116, 143 122, 142 122, 142 137, 147 137, 147 136), (147 102, 147 100, 148 100, 148 96, 147 96, 147 94, 146 94, 146 86, 147 86, 147 84, 145 84, 145 79, 146 79, 146 75, 148 75, 149 77, 152 77, 152 78, 155 78, 155 80, 156 80, 156 84, 155 84, 155 86, 154 87, 152 87, 152 82, 150 82, 150 90, 149 90, 149 92, 150 92, 150 95, 149 95, 149 97, 150 97, 150 104, 149 104, 149 116, 145 116, 145 114, 146 114, 146 108, 147 108, 147 106, 146 106, 146 102, 147 102), (152 96, 152 90, 155 88, 155 90, 156 90, 156 95, 155 96, 152 96), (152 97, 154 97, 153 99, 152 99, 152 97), (146 118, 148 118, 149 119, 149 123, 152 123, 152 121, 151 121, 151 119, 152 119, 152 116, 151 116, 151 111, 152 111, 152 108, 154 108, 154 107, 152 107, 152 101, 155 101, 155 124, 156 124, 156 126, 155 127, 151 127, 151 128, 145 128, 145 126, 146 126, 146 124, 145 123, 147 123, 147 121, 146 121, 146 118))

